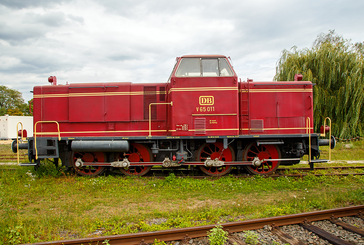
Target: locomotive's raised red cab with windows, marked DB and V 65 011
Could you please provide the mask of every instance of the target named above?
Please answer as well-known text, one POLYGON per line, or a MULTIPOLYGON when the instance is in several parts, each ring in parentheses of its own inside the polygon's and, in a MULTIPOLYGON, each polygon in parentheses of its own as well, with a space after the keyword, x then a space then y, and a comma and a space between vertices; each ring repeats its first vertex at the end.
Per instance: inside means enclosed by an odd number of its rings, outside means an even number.
POLYGON ((237 79, 226 56, 178 57, 169 80, 169 135, 238 135, 237 79))

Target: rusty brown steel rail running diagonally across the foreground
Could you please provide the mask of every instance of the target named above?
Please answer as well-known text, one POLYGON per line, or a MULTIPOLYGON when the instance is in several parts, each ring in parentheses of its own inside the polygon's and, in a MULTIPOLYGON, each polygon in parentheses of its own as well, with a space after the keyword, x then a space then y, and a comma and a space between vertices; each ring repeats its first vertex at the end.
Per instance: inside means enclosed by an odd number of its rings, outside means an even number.
MULTIPOLYGON (((261 218, 254 220, 244 220, 236 222, 228 222, 221 224, 223 228, 229 229, 230 232, 241 232, 243 230, 254 230, 261 229, 265 225, 272 225, 274 223, 276 226, 282 225, 293 225, 300 224, 305 219, 307 221, 317 221, 329 219, 332 215, 336 218, 357 215, 359 212, 364 212, 364 205, 345 207, 345 208, 335 208, 327 209, 322 211, 314 211, 307 213, 298 213, 294 215, 283 215, 277 217, 261 218)), ((140 232, 131 234, 121 234, 113 236, 100 236, 100 237, 89 237, 89 238, 77 238, 71 240, 59 240, 59 241, 48 241, 48 242, 36 242, 32 245, 97 245, 99 242, 108 240, 110 245, 138 245, 141 243, 142 239, 146 243, 154 242, 155 239, 161 241, 175 241, 182 240, 186 234, 189 237, 204 237, 207 232, 214 228, 215 225, 203 225, 188 228, 176 228, 169 230, 158 230, 153 232, 140 232)))

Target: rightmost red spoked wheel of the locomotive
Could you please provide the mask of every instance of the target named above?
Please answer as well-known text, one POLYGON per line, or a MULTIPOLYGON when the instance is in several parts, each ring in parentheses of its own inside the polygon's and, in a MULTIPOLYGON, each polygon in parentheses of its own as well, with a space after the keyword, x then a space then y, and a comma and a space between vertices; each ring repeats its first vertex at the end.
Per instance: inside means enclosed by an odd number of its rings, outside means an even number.
MULTIPOLYGON (((244 159, 246 162, 252 162, 254 158, 263 159, 280 159, 281 151, 276 145, 261 144, 257 146, 256 142, 252 142, 245 147, 244 159)), ((245 165, 245 168, 256 175, 270 175, 277 170, 281 161, 265 161, 260 166, 245 165)))

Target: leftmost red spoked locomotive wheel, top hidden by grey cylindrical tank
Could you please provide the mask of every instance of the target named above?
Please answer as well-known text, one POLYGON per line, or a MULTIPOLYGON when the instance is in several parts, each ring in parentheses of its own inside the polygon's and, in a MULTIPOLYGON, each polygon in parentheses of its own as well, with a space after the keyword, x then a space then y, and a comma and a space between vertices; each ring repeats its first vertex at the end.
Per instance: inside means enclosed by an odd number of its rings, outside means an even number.
POLYGON ((106 162, 106 154, 104 152, 78 152, 72 151, 71 164, 76 173, 83 176, 96 176, 102 173, 106 166, 82 166, 76 167, 77 159, 81 158, 85 163, 104 163, 106 162))

